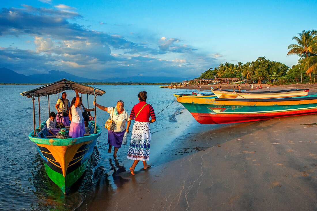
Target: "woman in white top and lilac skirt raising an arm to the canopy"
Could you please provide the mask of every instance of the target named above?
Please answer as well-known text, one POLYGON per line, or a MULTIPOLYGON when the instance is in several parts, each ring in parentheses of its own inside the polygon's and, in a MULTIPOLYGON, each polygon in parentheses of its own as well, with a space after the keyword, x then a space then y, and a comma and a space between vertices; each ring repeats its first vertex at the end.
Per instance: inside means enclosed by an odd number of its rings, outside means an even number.
POLYGON ((81 106, 81 97, 78 95, 78 90, 75 90, 76 97, 73 98, 70 103, 69 109, 69 118, 71 120, 69 127, 69 136, 72 138, 83 137, 85 134, 84 120, 82 113, 84 112, 83 107, 81 106))

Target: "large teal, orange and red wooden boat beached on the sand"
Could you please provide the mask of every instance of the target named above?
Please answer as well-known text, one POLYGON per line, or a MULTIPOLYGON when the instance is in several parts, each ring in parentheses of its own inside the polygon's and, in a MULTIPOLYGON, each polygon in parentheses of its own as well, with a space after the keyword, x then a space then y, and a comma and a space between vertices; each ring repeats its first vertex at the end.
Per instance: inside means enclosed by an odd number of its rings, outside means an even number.
POLYGON ((317 95, 275 99, 178 97, 197 122, 224 124, 317 113, 317 95))

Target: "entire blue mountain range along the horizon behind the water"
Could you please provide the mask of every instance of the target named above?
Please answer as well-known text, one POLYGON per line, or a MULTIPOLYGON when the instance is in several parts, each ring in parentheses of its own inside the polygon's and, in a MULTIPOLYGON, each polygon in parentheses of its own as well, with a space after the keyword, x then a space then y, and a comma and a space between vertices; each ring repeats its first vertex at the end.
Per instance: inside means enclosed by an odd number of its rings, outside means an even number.
POLYGON ((62 78, 66 78, 71 81, 76 82, 143 82, 143 83, 169 83, 169 82, 179 82, 184 80, 190 80, 191 78, 180 78, 180 77, 147 77, 147 76, 133 76, 127 78, 108 78, 103 80, 83 78, 79 76, 72 75, 65 71, 51 70, 47 74, 33 74, 33 75, 23 75, 17 73, 8 68, 0 68, 0 83, 12 83, 12 84, 42 84, 51 83, 58 81, 62 78))

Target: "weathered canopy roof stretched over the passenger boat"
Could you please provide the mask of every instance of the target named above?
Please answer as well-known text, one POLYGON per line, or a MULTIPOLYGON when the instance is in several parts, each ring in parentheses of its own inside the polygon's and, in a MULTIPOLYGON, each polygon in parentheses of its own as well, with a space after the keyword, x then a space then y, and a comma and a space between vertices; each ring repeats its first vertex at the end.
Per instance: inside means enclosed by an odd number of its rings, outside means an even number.
POLYGON ((33 97, 33 93, 34 93, 35 96, 41 97, 41 96, 57 94, 64 90, 79 90, 79 92, 83 94, 91 94, 91 95, 96 94, 100 96, 105 93, 104 90, 100 90, 92 86, 83 85, 83 84, 76 83, 74 81, 70 81, 67 79, 61 79, 54 83, 44 85, 33 90, 22 92, 21 95, 27 96, 27 97, 33 97))

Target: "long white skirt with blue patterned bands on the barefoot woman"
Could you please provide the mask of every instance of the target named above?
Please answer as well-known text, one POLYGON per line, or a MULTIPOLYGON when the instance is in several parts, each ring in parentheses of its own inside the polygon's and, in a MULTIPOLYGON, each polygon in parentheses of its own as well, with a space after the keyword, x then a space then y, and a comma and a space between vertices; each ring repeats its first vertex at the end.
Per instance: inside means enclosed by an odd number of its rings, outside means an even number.
POLYGON ((151 129, 150 123, 135 121, 127 158, 131 160, 149 160, 151 129))

